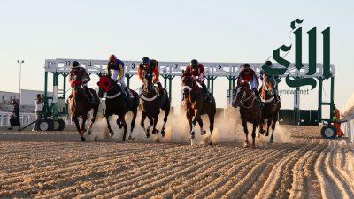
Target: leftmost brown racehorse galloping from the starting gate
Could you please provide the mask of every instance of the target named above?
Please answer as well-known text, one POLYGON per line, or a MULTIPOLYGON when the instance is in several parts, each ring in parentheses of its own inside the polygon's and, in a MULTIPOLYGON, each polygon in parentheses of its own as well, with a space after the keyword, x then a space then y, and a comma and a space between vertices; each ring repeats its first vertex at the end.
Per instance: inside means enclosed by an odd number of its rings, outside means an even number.
POLYGON ((91 128, 95 123, 98 107, 100 104, 100 100, 96 91, 92 88, 89 88, 89 90, 92 94, 92 97, 95 99, 95 103, 89 103, 89 99, 86 96, 85 90, 81 86, 73 87, 73 96, 69 103, 70 110, 72 111, 73 122, 75 123, 76 129, 81 136, 81 141, 86 140, 83 134, 86 132, 85 123, 88 119, 89 111, 93 109, 93 116, 88 130, 88 134, 91 134, 91 128), (81 126, 79 125, 79 117, 81 117, 81 126))

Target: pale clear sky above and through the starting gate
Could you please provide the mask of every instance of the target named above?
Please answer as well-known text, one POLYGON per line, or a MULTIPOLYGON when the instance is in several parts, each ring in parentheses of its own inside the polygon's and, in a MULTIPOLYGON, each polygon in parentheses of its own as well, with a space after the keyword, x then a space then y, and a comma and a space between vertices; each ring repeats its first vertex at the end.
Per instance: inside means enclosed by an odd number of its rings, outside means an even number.
MULTIPOLYGON (((352 93, 354 65, 353 1, 0 1, 0 90, 22 87, 42 90, 44 60, 48 58, 122 60, 153 57, 158 61, 264 62, 282 44, 291 44, 290 22, 304 19, 303 60, 307 34, 317 27, 318 62, 322 60, 320 32, 331 27, 331 63, 335 65, 335 103, 352 93)), ((287 56, 294 62, 294 50, 287 56)), ((92 85, 95 82, 92 82, 92 85)), ((132 88, 140 86, 133 79, 132 88)), ((179 103, 181 80, 173 80, 173 104, 179 103)), ((282 89, 289 89, 281 84, 282 89)), ((329 85, 325 84, 328 90, 329 85)), ((226 103, 227 80, 217 79, 218 106, 226 103)), ((307 89, 307 88, 304 88, 307 89)), ((317 89, 301 96, 301 107, 317 108, 317 89), (316 100, 315 100, 316 99, 316 100)), ((329 92, 326 95, 329 96, 329 92)), ((293 96, 282 96, 292 108, 293 96)))

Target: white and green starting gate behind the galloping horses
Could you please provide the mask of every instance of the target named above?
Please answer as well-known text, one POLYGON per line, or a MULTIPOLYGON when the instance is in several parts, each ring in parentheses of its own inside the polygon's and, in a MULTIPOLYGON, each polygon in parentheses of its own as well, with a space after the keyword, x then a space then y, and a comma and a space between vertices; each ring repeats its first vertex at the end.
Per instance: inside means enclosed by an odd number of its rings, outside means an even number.
MULTIPOLYGON (((57 59, 46 59, 44 65, 44 108, 43 116, 40 123, 40 128, 42 130, 63 130, 65 128, 64 118, 69 115, 68 105, 65 103, 67 98, 66 92, 69 86, 67 76, 70 72, 71 65, 73 61, 78 61, 81 67, 86 68, 88 73, 100 74, 105 73, 107 67, 107 60, 93 60, 93 59, 67 59, 67 58, 57 58, 57 59), (52 77, 52 80, 50 78, 52 77), (60 81, 61 79, 61 81, 60 81), (59 81, 61 84, 59 85, 59 81), (49 95, 50 84, 52 83, 53 95, 49 95)), ((137 75, 137 69, 140 61, 123 61, 125 63, 127 86, 129 87, 131 78, 137 75)), ((188 62, 159 62, 159 70, 161 77, 163 78, 164 87, 168 90, 170 98, 173 92, 173 79, 176 76, 181 76, 183 69, 187 67, 188 62)), ((227 90, 227 100, 230 101, 232 96, 232 91, 235 89, 235 82, 238 73, 242 69, 243 63, 203 63, 206 72, 206 85, 213 93, 214 91, 214 81, 218 78, 226 78, 228 80, 227 90)), ((253 70, 259 74, 263 63, 250 63, 253 70)), ((304 64, 305 65, 305 64, 304 64)), ((274 64, 274 67, 282 67, 281 65, 274 64)), ((335 85, 335 69, 334 65, 331 65, 331 73, 333 77, 330 79, 330 101, 323 102, 322 100, 322 90, 323 82, 325 79, 322 75, 322 65, 317 65, 316 73, 313 75, 306 75, 308 67, 304 66, 303 69, 298 71, 296 67, 292 64, 289 65, 289 70, 282 77, 286 77, 288 74, 293 77, 315 77, 319 80, 319 107, 317 112, 308 113, 312 116, 312 119, 317 115, 317 123, 329 122, 333 116, 333 104, 334 104, 334 85, 335 85), (324 106, 330 106, 330 119, 322 118, 322 110, 324 106)), ((298 90, 299 88, 296 88, 298 90)), ((180 92, 180 91, 179 91, 180 92)), ((301 125, 302 115, 306 115, 304 111, 299 108, 299 95, 295 95, 294 110, 281 111, 282 123, 287 123, 291 121, 293 125, 301 125)))

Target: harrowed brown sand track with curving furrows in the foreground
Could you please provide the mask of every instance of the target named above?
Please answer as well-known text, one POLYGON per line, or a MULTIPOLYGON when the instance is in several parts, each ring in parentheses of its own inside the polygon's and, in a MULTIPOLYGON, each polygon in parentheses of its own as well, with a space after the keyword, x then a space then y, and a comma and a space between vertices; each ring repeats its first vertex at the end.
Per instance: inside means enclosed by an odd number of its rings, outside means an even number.
MULTIPOLYGON (((354 153, 318 127, 244 149, 0 132, 0 198, 354 198, 354 153)), ((243 139, 243 138, 242 138, 243 139)))

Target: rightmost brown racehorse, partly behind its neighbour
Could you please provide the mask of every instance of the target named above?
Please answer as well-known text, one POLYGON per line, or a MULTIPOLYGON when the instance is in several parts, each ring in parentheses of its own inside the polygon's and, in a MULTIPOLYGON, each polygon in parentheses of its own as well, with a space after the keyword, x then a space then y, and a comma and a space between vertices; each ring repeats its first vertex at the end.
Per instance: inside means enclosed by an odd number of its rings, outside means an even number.
POLYGON ((266 75, 264 75, 264 83, 261 87, 261 100, 262 103, 264 103, 264 105, 262 108, 261 121, 259 123, 259 133, 260 134, 266 133, 266 136, 268 136, 269 127, 272 126, 272 135, 269 139, 270 143, 273 143, 275 124, 279 119, 279 111, 281 110, 281 101, 275 100, 275 95, 277 95, 274 92, 275 84, 276 82, 275 80, 273 80, 273 78, 269 79, 266 75), (265 123, 266 119, 267 119, 267 128, 266 130, 264 130, 263 124, 265 123))

